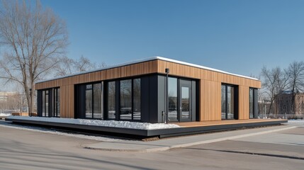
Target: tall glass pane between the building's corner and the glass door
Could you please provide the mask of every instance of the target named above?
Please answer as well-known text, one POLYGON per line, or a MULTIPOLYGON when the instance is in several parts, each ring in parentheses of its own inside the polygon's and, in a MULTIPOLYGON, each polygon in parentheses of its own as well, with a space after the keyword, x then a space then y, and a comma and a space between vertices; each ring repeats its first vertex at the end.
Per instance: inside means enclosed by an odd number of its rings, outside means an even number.
POLYGON ((176 122, 178 121, 177 117, 177 79, 169 77, 168 79, 168 121, 176 122))

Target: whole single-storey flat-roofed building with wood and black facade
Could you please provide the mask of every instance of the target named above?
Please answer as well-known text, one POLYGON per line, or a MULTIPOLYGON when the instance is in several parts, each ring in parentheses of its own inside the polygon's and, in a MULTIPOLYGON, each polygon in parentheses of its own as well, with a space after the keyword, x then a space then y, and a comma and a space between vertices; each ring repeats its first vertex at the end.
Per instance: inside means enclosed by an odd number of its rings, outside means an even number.
POLYGON ((257 118, 260 87, 252 77, 164 57, 35 84, 38 116, 145 123, 257 118))

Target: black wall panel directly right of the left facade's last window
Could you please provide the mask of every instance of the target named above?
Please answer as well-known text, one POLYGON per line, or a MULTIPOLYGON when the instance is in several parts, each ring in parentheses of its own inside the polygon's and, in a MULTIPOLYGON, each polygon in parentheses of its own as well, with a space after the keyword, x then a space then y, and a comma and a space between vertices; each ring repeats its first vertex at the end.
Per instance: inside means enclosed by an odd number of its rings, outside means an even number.
POLYGON ((142 77, 140 80, 140 107, 141 107, 141 121, 142 122, 150 122, 150 107, 149 107, 149 92, 150 92, 150 81, 149 77, 142 77))

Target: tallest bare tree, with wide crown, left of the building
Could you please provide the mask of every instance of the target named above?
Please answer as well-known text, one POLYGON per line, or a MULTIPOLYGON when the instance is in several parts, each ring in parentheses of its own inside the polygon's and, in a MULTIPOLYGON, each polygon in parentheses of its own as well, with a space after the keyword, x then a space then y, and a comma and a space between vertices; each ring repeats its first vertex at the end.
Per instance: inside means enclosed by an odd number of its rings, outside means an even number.
POLYGON ((30 96, 35 81, 50 72, 67 46, 64 21, 50 8, 43 9, 40 1, 34 7, 29 4, 26 0, 3 0, 0 6, 0 45, 5 46, 0 78, 21 84, 28 106, 35 94, 30 96))

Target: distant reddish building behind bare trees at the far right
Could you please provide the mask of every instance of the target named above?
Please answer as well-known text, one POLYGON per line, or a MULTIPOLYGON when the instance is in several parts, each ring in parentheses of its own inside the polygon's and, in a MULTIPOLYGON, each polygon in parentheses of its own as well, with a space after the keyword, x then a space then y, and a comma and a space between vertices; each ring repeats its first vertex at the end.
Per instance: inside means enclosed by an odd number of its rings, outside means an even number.
POLYGON ((276 114, 304 114, 304 93, 292 94, 291 91, 283 91, 276 95, 276 114))

